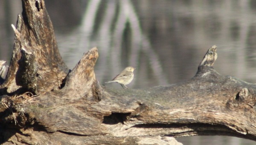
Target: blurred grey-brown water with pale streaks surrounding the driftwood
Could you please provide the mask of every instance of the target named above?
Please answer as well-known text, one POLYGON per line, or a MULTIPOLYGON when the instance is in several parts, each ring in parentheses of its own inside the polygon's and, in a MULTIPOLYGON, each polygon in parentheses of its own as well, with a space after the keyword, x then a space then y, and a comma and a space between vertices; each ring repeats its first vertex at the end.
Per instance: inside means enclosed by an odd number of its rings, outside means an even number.
MULTIPOLYGON (((45 0, 58 47, 72 69, 96 46, 96 78, 137 68, 129 88, 192 78, 208 48, 217 45, 220 74, 256 83, 256 0, 45 0)), ((21 0, 0 0, 0 60, 12 56, 21 0)), ((122 88, 117 83, 110 87, 122 88)), ((255 145, 230 136, 177 138, 183 145, 255 145)))

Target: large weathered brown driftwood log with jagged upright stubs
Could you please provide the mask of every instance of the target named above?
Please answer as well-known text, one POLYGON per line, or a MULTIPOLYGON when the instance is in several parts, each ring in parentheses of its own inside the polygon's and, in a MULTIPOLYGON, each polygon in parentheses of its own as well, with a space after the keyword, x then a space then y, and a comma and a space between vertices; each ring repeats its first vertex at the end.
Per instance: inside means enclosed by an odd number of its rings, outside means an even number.
POLYGON ((216 46, 186 82, 107 88, 93 71, 97 48, 68 70, 44 0, 22 6, 9 67, 0 61, 1 143, 164 145, 194 135, 256 141, 256 84, 218 74, 216 46))

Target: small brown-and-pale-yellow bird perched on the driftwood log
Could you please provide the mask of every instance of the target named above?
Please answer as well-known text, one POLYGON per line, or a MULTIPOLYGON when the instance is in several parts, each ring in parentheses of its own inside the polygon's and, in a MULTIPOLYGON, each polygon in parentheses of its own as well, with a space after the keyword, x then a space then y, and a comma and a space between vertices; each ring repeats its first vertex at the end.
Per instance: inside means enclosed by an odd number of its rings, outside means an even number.
POLYGON ((113 78, 113 80, 105 82, 118 82, 123 88, 128 88, 126 85, 128 85, 134 78, 133 71, 136 68, 133 68, 131 66, 126 67, 120 74, 118 74, 116 77, 113 78))

